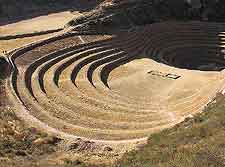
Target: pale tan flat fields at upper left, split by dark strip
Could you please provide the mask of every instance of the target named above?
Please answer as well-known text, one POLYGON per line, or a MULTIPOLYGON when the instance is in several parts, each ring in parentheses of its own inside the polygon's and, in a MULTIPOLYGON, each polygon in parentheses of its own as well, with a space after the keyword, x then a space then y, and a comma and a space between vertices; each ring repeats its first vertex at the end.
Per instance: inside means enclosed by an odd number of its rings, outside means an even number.
MULTIPOLYGON (((80 14, 78 11, 73 13, 65 11, 0 26, 0 36, 29 34, 63 28, 69 20, 79 15, 80 14)), ((38 35, 27 38, 16 38, 11 40, 0 40, 0 52, 10 51, 14 48, 24 46, 31 42, 55 36, 57 33, 38 35)))

